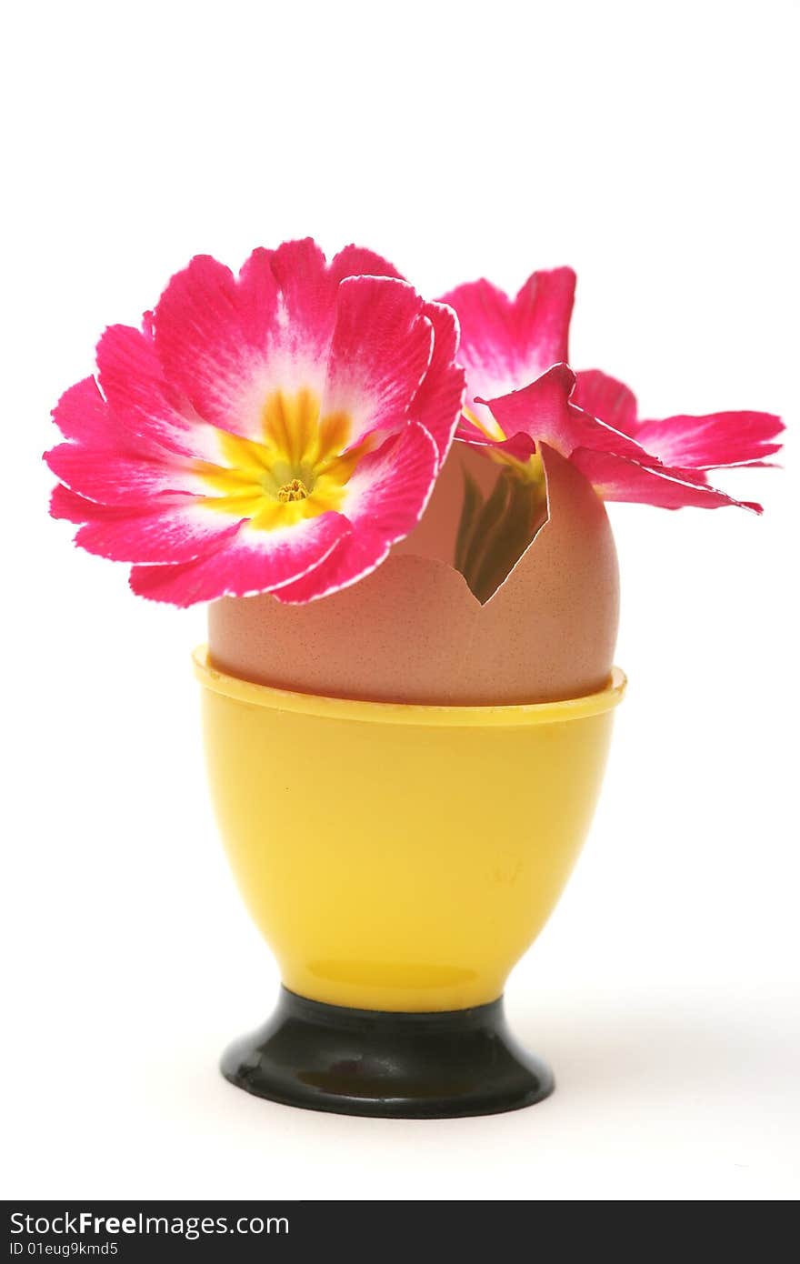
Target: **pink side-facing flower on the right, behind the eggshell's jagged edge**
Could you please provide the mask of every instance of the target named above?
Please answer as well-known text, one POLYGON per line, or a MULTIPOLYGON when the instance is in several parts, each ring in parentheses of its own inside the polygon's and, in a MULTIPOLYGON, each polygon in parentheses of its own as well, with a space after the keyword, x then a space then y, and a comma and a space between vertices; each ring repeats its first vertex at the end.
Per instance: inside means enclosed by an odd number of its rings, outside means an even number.
POLYGON ((662 508, 739 504, 708 485, 708 469, 763 465, 780 449, 779 417, 719 412, 638 421, 628 387, 599 370, 566 365, 575 274, 533 273, 512 301, 487 281, 460 286, 442 302, 461 322, 466 407, 456 437, 484 447, 532 480, 538 441, 567 456, 608 501, 662 508))

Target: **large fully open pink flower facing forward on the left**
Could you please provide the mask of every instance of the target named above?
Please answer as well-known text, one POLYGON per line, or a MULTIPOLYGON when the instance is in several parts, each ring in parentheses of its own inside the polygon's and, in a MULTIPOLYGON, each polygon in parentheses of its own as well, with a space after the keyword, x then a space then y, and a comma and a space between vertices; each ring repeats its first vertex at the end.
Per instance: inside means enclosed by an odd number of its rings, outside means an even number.
POLYGON ((200 255, 62 396, 51 512, 154 600, 346 588, 425 511, 463 401, 455 349, 452 313, 368 250, 326 264, 289 241, 239 277, 200 255))

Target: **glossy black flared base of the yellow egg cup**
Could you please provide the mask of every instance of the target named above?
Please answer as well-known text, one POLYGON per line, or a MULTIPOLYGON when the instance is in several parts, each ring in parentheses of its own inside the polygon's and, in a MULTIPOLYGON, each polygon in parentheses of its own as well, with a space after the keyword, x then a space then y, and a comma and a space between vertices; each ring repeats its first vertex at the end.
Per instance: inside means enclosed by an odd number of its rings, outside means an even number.
POLYGON ((458 1119, 548 1097, 552 1072, 508 1030, 503 997, 445 1012, 325 1005, 281 988, 274 1014, 222 1055, 231 1085, 337 1115, 458 1119))

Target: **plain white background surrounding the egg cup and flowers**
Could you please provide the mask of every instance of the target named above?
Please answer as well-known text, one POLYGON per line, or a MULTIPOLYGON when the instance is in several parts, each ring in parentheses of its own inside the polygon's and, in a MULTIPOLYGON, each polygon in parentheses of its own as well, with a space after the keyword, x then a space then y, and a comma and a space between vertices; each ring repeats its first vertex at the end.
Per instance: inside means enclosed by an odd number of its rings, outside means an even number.
MULTIPOLYGON (((800 1192, 799 9, 16 5, 0 76, 6 1197, 800 1192), (277 977, 206 800, 202 611, 47 517, 48 412, 191 254, 311 233, 435 296, 579 273, 573 360, 645 415, 755 407, 762 520, 613 507, 631 679, 586 851, 517 968, 559 1090, 489 1119, 316 1115, 215 1066, 277 977)), ((358 794, 358 781, 353 785, 358 794)))

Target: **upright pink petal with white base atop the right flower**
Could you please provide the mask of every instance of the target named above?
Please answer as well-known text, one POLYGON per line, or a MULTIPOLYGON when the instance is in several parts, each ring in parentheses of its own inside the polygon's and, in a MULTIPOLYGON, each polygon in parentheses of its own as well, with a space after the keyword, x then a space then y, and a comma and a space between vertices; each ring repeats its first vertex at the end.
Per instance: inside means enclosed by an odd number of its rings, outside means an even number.
POLYGON ((478 399, 508 394, 569 359, 574 297, 571 268, 535 272, 513 300, 485 279, 444 296, 459 317, 466 402, 479 417, 478 399))

